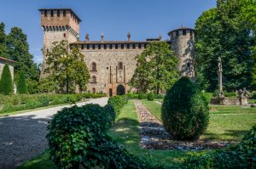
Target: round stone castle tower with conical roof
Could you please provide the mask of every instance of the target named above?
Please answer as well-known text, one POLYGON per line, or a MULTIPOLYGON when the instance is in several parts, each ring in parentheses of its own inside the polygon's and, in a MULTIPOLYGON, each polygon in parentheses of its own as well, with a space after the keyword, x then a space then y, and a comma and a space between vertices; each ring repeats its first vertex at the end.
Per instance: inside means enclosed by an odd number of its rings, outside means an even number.
POLYGON ((171 48, 179 58, 181 76, 195 79, 195 30, 181 27, 168 33, 171 48))

